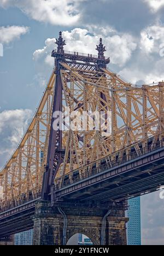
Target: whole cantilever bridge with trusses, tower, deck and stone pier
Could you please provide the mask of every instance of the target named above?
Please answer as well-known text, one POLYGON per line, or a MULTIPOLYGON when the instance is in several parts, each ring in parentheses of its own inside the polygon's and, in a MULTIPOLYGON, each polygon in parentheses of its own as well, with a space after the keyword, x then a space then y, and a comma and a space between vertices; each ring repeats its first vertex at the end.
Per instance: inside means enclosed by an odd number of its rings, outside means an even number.
POLYGON ((56 44, 39 107, 0 173, 0 242, 33 228, 34 245, 80 232, 95 245, 125 245, 126 200, 164 184, 164 82, 136 86, 110 71, 102 38, 98 56, 66 52, 61 32, 56 44), (75 123, 89 114, 86 126, 71 129, 67 110, 75 123))

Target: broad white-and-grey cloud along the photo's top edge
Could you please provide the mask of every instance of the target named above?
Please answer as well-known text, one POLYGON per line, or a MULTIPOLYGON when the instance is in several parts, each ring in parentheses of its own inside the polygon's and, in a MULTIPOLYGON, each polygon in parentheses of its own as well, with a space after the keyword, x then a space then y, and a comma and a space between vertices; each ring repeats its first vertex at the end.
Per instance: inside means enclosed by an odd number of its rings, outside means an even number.
POLYGON ((147 3, 156 10, 163 0, 1 0, 0 7, 17 7, 29 18, 52 25, 110 24, 119 31, 135 32, 154 16, 147 3))

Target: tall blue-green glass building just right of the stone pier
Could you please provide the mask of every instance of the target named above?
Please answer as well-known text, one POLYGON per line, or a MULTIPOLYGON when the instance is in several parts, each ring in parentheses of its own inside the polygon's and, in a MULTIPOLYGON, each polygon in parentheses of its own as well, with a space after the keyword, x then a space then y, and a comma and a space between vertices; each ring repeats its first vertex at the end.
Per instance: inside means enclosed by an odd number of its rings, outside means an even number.
POLYGON ((128 245, 141 245, 140 228, 140 197, 128 200, 127 217, 130 219, 127 224, 128 245))

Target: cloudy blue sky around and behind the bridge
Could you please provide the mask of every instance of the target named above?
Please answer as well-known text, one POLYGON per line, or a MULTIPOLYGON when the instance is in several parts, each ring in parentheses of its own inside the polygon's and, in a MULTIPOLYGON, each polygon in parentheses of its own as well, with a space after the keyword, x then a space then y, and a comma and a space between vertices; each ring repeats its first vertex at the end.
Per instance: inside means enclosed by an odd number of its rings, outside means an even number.
MULTIPOLYGON (((38 106, 60 30, 71 51, 94 54, 103 37, 110 69, 151 84, 164 79, 163 12, 164 0, 0 0, 0 166, 38 106)), ((164 244, 163 211, 158 193, 142 197, 144 244, 164 244)))

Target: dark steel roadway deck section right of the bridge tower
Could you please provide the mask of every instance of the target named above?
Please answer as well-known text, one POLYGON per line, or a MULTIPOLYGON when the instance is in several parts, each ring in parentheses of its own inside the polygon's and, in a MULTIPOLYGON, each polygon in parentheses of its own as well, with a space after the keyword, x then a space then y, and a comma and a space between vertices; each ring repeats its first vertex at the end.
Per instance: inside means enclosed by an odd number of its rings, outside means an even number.
POLYGON ((164 185, 164 147, 56 190, 59 200, 120 201, 164 185))

